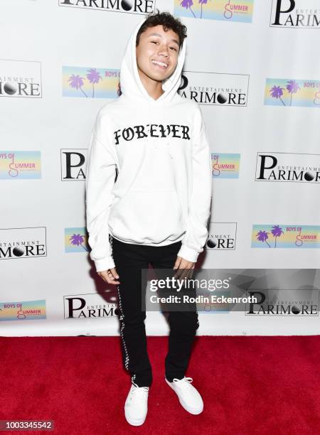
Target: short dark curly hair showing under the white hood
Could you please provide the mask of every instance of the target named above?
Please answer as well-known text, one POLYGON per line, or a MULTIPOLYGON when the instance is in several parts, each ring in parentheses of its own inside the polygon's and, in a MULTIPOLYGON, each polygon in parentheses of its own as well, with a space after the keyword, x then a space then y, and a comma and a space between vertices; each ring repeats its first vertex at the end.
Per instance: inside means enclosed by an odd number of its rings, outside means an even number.
POLYGON ((154 12, 154 14, 149 14, 146 21, 139 28, 136 39, 136 46, 139 45, 140 35, 146 31, 149 27, 158 26, 162 24, 164 26, 164 31, 166 32, 168 29, 174 31, 179 37, 179 49, 182 46, 184 39, 187 37, 186 34, 186 26, 179 20, 179 18, 174 17, 169 12, 159 12, 159 9, 156 9, 158 12, 154 12))

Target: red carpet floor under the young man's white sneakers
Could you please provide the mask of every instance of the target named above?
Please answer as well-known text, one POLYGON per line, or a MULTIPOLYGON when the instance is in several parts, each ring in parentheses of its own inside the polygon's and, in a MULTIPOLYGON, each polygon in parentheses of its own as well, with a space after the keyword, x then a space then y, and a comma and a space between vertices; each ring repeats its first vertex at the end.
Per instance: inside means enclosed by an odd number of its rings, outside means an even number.
POLYGON ((51 432, 4 433, 320 433, 320 335, 197 337, 186 375, 203 396, 198 416, 164 382, 166 345, 148 337, 154 383, 146 421, 133 427, 119 337, 0 337, 0 419, 55 423, 51 432))

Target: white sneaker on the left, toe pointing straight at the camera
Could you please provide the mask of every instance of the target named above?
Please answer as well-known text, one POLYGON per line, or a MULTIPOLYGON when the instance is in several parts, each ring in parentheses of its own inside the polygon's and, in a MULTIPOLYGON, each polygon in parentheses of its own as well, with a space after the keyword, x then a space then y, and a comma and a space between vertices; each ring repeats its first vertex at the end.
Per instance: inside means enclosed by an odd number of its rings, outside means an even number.
POLYGON ((132 426, 144 424, 148 412, 149 387, 138 387, 132 382, 129 394, 124 404, 124 415, 132 426))

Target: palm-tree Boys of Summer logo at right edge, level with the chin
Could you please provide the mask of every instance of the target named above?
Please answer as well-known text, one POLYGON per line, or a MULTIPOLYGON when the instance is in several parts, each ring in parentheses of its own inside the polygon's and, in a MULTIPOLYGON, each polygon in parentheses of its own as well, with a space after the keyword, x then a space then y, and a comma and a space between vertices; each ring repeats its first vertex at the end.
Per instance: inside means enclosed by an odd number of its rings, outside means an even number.
POLYGON ((265 104, 268 106, 320 107, 320 80, 267 78, 265 104))

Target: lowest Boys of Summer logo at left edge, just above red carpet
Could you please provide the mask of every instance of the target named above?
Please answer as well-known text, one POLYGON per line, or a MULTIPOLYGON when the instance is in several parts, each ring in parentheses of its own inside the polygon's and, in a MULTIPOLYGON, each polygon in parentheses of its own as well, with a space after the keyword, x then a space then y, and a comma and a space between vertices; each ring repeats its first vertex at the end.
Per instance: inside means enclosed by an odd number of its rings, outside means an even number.
POLYGON ((47 318, 46 300, 0 302, 0 321, 38 320, 47 318))

